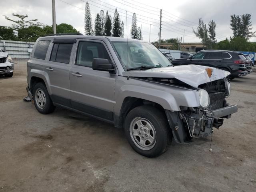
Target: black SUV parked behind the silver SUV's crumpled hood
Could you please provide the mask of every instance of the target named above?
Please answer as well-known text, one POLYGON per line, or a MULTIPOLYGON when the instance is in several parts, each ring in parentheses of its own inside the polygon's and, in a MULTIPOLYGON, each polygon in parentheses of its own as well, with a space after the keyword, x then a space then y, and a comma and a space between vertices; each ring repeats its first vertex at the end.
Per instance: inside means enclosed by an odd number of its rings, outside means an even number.
POLYGON ((240 55, 243 54, 225 50, 202 50, 188 58, 174 59, 171 63, 174 66, 195 64, 219 68, 229 71, 230 78, 233 79, 248 74, 246 62, 240 58, 240 55))

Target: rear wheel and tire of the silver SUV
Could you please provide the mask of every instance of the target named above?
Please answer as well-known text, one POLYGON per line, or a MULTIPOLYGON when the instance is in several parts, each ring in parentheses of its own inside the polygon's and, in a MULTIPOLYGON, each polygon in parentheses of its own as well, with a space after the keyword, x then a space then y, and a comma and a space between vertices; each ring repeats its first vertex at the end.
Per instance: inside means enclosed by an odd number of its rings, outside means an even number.
POLYGON ((52 104, 47 88, 42 82, 37 83, 33 88, 33 101, 38 112, 42 114, 52 113, 56 108, 52 104))

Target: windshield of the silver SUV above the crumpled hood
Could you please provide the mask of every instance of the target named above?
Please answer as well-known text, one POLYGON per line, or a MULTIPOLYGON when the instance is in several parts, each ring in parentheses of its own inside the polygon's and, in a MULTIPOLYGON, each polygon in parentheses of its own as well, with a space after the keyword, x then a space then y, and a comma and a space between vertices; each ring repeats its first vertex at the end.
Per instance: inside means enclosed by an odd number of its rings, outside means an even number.
POLYGON ((151 43, 112 41, 112 46, 124 68, 167 67, 172 64, 151 43))

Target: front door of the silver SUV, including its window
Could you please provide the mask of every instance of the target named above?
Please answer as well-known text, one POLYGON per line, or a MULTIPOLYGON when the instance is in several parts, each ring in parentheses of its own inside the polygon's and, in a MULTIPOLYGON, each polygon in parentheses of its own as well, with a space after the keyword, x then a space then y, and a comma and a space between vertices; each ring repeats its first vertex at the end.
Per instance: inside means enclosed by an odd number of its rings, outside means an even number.
POLYGON ((110 56, 103 41, 78 42, 76 58, 70 70, 70 97, 72 108, 112 121, 117 75, 92 70, 93 58, 105 58, 112 62, 110 56))

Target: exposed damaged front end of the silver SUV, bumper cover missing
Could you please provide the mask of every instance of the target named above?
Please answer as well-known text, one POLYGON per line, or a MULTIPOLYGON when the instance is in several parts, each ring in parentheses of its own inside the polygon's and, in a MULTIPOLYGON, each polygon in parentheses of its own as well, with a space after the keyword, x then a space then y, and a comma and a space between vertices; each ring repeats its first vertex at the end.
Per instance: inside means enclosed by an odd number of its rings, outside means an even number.
POLYGON ((174 140, 178 143, 211 135, 213 127, 218 129, 224 118, 230 118, 231 114, 237 112, 237 105, 230 105, 225 99, 230 95, 230 82, 227 79, 202 84, 197 90, 207 92, 209 102, 206 106, 180 106, 179 112, 166 110, 174 140))

